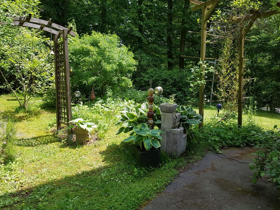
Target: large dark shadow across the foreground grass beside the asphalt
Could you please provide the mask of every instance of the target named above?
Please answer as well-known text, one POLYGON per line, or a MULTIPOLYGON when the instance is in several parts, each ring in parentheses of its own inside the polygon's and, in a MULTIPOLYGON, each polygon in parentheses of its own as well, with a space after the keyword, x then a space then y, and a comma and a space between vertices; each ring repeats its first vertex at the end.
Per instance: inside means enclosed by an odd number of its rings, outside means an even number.
MULTIPOLYGON (((129 164, 129 156, 122 149, 129 149, 129 145, 111 144, 101 153, 102 165, 93 165, 92 170, 74 176, 3 194, 0 204, 2 199, 7 202, 7 209, 136 209, 166 183, 159 187, 155 181, 150 190, 144 179, 157 178, 153 173, 159 169, 139 171, 129 164)), ((59 171, 56 169, 55 173, 59 171)))

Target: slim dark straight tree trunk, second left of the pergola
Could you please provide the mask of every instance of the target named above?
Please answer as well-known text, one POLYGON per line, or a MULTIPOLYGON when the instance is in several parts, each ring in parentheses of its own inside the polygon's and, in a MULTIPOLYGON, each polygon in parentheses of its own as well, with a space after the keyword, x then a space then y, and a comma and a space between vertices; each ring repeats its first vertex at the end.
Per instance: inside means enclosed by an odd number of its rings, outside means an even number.
POLYGON ((172 19, 173 19, 173 14, 172 14, 172 9, 173 9, 173 0, 168 0, 168 13, 167 13, 167 19, 168 19, 168 25, 167 25, 167 67, 168 69, 172 69, 173 64, 172 64, 172 34, 173 34, 173 29, 172 29, 172 19))

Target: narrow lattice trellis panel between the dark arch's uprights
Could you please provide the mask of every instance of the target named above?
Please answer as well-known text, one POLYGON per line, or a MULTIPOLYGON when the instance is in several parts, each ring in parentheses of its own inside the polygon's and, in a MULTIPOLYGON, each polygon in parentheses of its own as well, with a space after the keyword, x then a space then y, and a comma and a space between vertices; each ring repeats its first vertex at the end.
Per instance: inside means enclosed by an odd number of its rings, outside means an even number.
POLYGON ((56 76, 57 76, 57 95, 58 95, 58 121, 59 123, 67 125, 67 99, 66 99, 66 83, 65 83, 65 69, 64 69, 64 54, 63 42, 56 44, 55 53, 56 59, 56 76))

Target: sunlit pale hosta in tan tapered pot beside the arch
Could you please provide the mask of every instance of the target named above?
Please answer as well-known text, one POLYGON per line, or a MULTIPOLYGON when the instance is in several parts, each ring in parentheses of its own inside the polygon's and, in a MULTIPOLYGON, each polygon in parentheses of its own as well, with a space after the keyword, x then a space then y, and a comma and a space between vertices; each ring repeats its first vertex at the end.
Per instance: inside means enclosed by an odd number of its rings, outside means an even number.
POLYGON ((69 122, 73 124, 66 129, 74 128, 76 134, 76 142, 81 145, 86 143, 88 133, 91 132, 92 129, 97 127, 93 122, 90 122, 90 120, 84 120, 83 118, 78 118, 69 122))

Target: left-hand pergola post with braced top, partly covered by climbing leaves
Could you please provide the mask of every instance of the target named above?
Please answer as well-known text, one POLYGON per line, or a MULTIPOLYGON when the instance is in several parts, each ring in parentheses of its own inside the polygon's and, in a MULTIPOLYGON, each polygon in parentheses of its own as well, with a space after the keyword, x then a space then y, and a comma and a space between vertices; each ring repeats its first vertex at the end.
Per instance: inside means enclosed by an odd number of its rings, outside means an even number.
MULTIPOLYGON (((191 4, 195 6, 192 7, 192 11, 201 9, 202 10, 202 18, 201 18, 201 43, 200 43, 200 60, 205 61, 205 51, 206 51, 206 29, 207 29, 207 20, 209 20, 211 14, 214 9, 218 5, 218 3, 222 0, 209 0, 209 1, 197 1, 190 0, 191 4)), ((201 71, 205 71, 202 64, 200 65, 202 68, 201 71)), ((203 78, 201 78, 203 79, 203 78)), ((204 116, 204 84, 201 84, 199 87, 199 114, 204 116)), ((199 127, 203 127, 203 122, 199 124, 199 127)))

